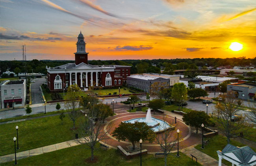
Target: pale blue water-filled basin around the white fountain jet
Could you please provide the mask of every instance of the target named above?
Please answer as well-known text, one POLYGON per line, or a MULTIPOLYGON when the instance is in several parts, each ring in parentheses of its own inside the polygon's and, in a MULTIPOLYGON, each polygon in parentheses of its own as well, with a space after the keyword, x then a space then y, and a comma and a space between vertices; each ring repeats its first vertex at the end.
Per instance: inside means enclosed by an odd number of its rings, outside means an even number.
POLYGON ((170 124, 168 124, 167 122, 154 118, 152 117, 150 122, 146 121, 146 118, 134 118, 134 119, 130 119, 130 120, 126 120, 123 121, 124 123, 135 123, 135 122, 145 122, 150 128, 152 128, 152 130, 156 133, 162 133, 164 131, 164 129, 169 130, 169 129, 174 129, 173 126, 171 126, 170 124), (165 127, 163 127, 165 126, 165 127))

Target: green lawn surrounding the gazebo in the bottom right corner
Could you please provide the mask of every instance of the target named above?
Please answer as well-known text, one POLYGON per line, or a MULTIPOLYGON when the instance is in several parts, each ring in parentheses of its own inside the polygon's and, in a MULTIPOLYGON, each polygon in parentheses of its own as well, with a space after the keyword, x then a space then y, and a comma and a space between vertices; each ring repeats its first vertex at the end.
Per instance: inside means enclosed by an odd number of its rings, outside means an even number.
MULTIPOLYGON (((239 142, 232 141, 232 140, 230 141, 230 144, 232 144, 234 146, 238 146, 238 147, 246 146, 244 144, 241 144, 239 142)), ((223 150, 226 145, 227 145, 227 138, 223 137, 221 135, 217 135, 217 136, 214 136, 213 138, 210 138, 209 144, 204 146, 204 149, 201 148, 202 144, 195 146, 195 148, 206 153, 207 155, 213 157, 214 159, 219 160, 219 157, 218 157, 216 151, 223 150)), ((255 151, 255 149, 253 149, 253 150, 255 151)), ((223 159, 222 162, 228 166, 232 166, 232 163, 227 160, 223 159)))

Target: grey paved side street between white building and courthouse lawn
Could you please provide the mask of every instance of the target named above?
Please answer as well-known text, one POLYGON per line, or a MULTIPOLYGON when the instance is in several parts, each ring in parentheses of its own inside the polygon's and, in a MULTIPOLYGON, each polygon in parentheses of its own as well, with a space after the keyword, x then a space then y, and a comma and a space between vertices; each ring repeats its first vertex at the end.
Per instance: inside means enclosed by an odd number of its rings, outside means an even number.
POLYGON ((35 78, 34 83, 31 83, 31 100, 32 104, 45 103, 43 99, 42 92, 40 90, 40 86, 45 82, 45 77, 43 78, 35 78))

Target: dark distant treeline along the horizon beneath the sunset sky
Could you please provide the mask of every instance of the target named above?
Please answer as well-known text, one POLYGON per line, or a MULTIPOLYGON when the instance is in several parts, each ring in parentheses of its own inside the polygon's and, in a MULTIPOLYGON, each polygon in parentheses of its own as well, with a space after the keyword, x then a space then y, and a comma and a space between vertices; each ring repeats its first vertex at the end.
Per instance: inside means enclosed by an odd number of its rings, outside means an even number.
MULTIPOLYGON (((64 65, 66 63, 74 63, 74 61, 63 61, 63 60, 37 60, 33 59, 32 61, 26 61, 27 72, 31 73, 32 69, 35 73, 47 74, 46 66, 56 67, 64 65)), ((160 73, 161 66, 165 67, 166 74, 171 74, 173 70, 178 69, 195 69, 196 66, 247 66, 247 65, 256 65, 256 58, 246 59, 245 57, 239 58, 194 58, 194 59, 124 59, 124 60, 93 60, 89 61, 91 65, 127 65, 131 67, 131 74, 136 73, 160 73), (156 65, 153 66, 152 64, 156 65), (176 65, 173 65, 176 64, 176 65)), ((11 72, 18 74, 19 72, 24 72, 24 62, 23 61, 1 61, 1 73, 6 72, 7 69, 11 72)))

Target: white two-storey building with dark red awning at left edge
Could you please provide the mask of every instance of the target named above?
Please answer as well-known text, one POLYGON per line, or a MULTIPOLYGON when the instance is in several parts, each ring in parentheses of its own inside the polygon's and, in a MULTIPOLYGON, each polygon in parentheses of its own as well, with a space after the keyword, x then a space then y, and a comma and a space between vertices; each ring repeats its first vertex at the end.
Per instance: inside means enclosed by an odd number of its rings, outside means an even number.
POLYGON ((1 85, 1 109, 25 105, 26 80, 6 81, 1 85))

